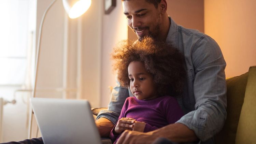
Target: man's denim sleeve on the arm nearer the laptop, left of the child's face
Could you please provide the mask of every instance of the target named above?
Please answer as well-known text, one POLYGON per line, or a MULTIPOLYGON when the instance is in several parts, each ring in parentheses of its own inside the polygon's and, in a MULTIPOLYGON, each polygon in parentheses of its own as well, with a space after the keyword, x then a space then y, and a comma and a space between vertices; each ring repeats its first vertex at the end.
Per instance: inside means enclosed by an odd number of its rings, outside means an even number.
POLYGON ((127 97, 129 97, 128 89, 121 87, 116 78, 116 86, 111 92, 111 101, 108 105, 108 110, 101 110, 97 115, 97 119, 104 117, 109 119, 113 124, 116 124, 127 97))

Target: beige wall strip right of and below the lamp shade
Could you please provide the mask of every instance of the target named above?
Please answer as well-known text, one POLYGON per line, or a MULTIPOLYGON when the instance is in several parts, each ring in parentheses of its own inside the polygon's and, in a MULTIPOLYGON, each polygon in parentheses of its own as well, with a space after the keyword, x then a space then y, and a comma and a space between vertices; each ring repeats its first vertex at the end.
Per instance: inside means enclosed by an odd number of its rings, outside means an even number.
POLYGON ((103 1, 92 0, 90 8, 81 17, 81 98, 88 99, 92 107, 100 106, 102 12, 103 1))

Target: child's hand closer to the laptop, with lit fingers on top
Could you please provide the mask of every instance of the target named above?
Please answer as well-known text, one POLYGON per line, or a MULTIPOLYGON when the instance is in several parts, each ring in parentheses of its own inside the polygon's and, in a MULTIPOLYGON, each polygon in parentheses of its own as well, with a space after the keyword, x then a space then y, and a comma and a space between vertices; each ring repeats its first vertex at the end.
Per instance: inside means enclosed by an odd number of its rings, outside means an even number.
POLYGON ((127 118, 123 117, 117 121, 116 127, 115 127, 115 133, 120 134, 124 130, 132 130, 133 124, 136 121, 136 119, 133 118, 127 118))

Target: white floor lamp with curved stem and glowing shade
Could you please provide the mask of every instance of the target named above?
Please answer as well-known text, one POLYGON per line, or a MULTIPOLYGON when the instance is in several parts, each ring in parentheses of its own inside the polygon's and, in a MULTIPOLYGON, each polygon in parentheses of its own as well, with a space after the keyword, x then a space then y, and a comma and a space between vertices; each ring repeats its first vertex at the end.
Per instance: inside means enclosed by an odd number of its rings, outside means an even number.
MULTIPOLYGON (((39 63, 39 56, 40 56, 40 43, 41 43, 41 32, 42 27, 44 23, 44 18, 48 12, 48 10, 52 7, 52 5, 56 2, 56 0, 53 0, 53 2, 48 6, 48 8, 45 10, 40 27, 39 27, 39 35, 38 35, 38 45, 37 45, 37 55, 35 59, 35 75, 34 75, 34 87, 32 91, 32 97, 35 97, 35 91, 36 91, 36 85, 37 85, 37 74, 38 74, 38 63, 39 63)), ((77 18, 84 14, 91 5, 91 0, 62 0, 63 6, 65 11, 68 13, 70 18, 77 18)), ((32 130, 32 115, 33 110, 31 108, 30 110, 30 116, 29 116, 29 127, 28 127, 28 139, 31 139, 31 130, 32 130)))

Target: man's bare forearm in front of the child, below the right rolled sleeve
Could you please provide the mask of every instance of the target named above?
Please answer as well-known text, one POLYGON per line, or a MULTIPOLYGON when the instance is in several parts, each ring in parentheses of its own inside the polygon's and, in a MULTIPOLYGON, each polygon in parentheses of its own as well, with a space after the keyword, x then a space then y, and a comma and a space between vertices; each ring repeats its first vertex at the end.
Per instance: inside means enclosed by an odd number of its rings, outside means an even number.
POLYGON ((195 132, 181 123, 171 124, 150 133, 158 138, 167 138, 177 143, 194 142, 198 140, 195 132))

